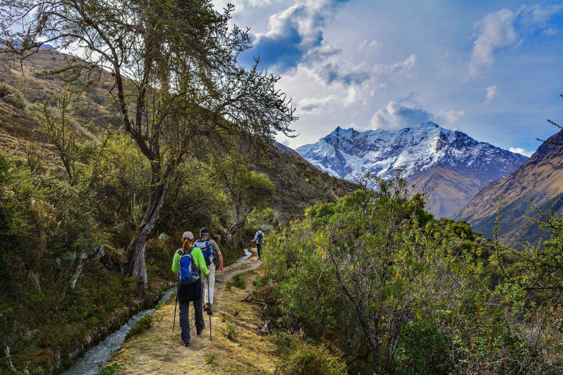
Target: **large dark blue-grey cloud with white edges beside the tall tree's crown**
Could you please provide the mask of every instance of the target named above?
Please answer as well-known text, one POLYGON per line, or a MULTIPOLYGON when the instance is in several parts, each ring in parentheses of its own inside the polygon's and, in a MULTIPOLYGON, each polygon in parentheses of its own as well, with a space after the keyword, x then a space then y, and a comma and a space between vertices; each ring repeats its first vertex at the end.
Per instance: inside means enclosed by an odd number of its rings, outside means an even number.
POLYGON ((338 5, 329 1, 296 3, 270 16, 268 31, 256 34, 256 49, 266 66, 280 71, 293 69, 319 49, 315 55, 338 53, 336 49, 321 48, 326 21, 338 5))

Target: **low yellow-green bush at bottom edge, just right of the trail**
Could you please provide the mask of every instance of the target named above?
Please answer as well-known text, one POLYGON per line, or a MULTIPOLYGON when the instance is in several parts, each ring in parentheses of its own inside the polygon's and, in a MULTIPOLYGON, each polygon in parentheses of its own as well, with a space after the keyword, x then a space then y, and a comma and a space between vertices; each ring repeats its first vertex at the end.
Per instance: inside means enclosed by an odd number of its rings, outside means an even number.
POLYGON ((345 375, 346 364, 331 354, 326 345, 315 345, 303 339, 303 333, 280 332, 274 342, 280 354, 276 375, 345 375))

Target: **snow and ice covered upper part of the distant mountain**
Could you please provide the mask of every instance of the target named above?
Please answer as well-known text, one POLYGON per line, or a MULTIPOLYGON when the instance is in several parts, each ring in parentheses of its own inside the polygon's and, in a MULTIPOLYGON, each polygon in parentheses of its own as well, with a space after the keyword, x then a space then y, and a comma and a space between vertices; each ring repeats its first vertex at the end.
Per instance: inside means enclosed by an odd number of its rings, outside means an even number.
POLYGON ((348 168, 354 175, 369 171, 391 179, 397 168, 409 176, 436 165, 502 177, 528 160, 519 153, 477 142, 465 133, 432 122, 395 132, 358 132, 338 126, 319 142, 305 144, 296 151, 320 170, 346 179, 352 179, 348 168))

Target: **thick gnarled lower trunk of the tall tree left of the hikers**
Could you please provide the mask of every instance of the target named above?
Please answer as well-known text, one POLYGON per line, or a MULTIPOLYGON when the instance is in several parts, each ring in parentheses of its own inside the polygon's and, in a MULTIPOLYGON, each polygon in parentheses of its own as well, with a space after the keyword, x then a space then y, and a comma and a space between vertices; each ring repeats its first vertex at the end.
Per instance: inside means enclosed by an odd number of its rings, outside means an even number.
POLYGON ((131 241, 131 245, 127 249, 129 274, 135 277, 137 286, 142 286, 143 288, 148 288, 149 286, 145 265, 146 242, 149 240, 150 234, 153 233, 160 217, 160 211, 162 211, 171 178, 172 173, 170 172, 164 182, 159 183, 157 180, 156 183, 151 183, 149 207, 146 210, 145 218, 131 241))

